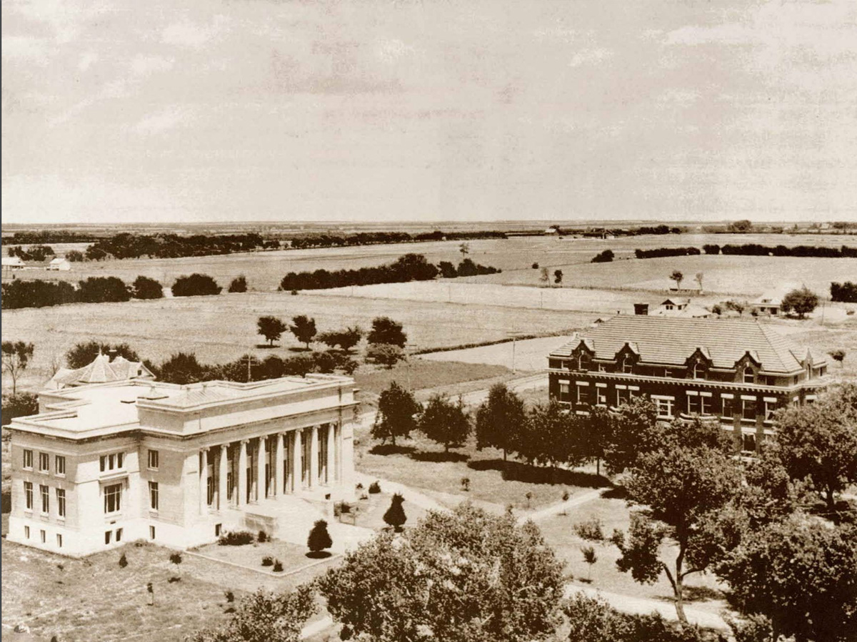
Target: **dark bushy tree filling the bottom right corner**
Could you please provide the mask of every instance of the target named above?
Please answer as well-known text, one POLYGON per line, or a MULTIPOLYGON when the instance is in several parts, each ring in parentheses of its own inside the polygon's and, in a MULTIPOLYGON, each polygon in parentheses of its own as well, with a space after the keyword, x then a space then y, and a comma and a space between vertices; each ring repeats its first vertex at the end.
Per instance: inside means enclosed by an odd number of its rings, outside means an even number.
POLYGON ((770 620, 770 639, 847 642, 857 631, 857 527, 795 514, 745 538, 718 565, 728 599, 770 620))

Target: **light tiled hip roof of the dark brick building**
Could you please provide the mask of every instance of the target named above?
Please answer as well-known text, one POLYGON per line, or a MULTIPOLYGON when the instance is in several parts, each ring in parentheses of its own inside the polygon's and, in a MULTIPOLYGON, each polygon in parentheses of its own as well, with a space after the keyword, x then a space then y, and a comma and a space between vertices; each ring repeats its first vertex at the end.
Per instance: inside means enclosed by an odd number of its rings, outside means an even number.
MULTIPOLYGON (((749 351, 754 357, 758 355, 764 372, 800 371, 808 352, 757 320, 619 315, 585 330, 550 356, 570 356, 581 339, 595 347, 596 359, 612 360, 626 342, 632 342, 640 361, 668 366, 684 365, 697 348, 702 348, 710 354, 712 366, 733 368, 749 351)), ((815 366, 824 364, 823 358, 811 358, 815 366)))

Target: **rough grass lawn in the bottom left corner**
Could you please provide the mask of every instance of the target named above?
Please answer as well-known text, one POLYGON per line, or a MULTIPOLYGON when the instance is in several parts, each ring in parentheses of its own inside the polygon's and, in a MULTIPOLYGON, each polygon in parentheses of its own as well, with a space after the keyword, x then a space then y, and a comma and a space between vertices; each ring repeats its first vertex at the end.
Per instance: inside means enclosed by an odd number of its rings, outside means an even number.
POLYGON ((3 624, 27 624, 45 640, 178 642, 225 621, 223 586, 186 572, 167 581, 176 575, 170 552, 129 544, 75 560, 3 540, 3 624), (119 568, 123 551, 129 565, 119 568), (154 585, 155 606, 148 605, 147 582, 154 585))

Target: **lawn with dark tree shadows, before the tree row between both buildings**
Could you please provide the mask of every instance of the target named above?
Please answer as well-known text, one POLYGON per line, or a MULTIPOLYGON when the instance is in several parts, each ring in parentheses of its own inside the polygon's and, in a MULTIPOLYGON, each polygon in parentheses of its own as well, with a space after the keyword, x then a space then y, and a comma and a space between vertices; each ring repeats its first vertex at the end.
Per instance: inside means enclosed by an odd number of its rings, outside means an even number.
POLYGON ((365 426, 356 427, 355 435, 358 471, 423 490, 447 505, 464 498, 495 510, 503 510, 508 504, 527 510, 560 502, 564 490, 573 496, 608 484, 594 471, 554 472, 511 458, 504 467, 502 451, 484 449, 480 452, 476 450, 474 437, 464 448, 444 453, 443 446, 418 432, 410 439, 398 440, 396 448, 376 442, 365 426), (461 479, 465 477, 470 479, 470 490, 462 488, 461 479), (528 492, 532 493, 530 500, 526 497, 528 492))

